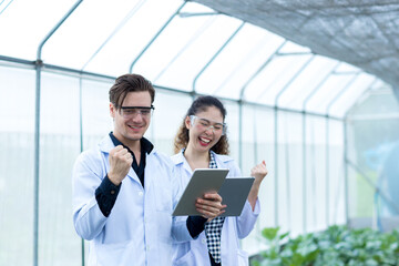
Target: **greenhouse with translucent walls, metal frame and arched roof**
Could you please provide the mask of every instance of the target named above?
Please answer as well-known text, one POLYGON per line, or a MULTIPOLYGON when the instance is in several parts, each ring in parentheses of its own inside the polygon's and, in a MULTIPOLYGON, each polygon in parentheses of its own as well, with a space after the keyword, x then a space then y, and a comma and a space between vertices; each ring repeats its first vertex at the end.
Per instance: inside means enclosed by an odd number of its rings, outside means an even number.
POLYGON ((399 1, 0 0, 0 265, 88 265, 72 167, 126 73, 155 88, 158 152, 213 95, 243 175, 265 160, 249 257, 265 228, 399 226, 399 1))

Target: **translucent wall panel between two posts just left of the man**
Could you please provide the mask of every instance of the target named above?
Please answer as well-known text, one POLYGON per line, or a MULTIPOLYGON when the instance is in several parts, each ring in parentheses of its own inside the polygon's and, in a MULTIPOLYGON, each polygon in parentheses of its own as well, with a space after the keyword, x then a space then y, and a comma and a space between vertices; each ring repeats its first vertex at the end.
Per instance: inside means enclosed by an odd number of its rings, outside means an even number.
POLYGON ((81 239, 72 223, 73 163, 80 153, 79 80, 43 73, 39 174, 39 264, 76 265, 81 239))

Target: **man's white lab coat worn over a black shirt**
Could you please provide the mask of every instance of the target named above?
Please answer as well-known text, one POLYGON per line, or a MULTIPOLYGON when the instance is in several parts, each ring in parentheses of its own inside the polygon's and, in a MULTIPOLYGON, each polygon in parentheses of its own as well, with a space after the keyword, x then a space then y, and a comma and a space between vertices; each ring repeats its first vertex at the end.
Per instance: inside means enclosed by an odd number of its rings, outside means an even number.
POLYGON ((76 233, 90 241, 88 265, 172 265, 173 241, 192 239, 185 221, 172 218, 183 190, 175 167, 154 150, 146 154, 144 188, 131 167, 105 217, 94 193, 109 172, 113 147, 106 136, 73 167, 73 222, 76 233))

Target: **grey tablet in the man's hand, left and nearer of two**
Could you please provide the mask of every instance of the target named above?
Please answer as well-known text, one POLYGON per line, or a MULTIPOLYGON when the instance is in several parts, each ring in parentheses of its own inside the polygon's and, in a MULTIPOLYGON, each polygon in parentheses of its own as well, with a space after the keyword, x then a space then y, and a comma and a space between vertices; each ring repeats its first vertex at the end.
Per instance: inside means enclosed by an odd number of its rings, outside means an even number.
POLYGON ((202 215, 195 208, 195 201, 207 192, 217 192, 227 174, 226 168, 196 168, 172 215, 202 215))

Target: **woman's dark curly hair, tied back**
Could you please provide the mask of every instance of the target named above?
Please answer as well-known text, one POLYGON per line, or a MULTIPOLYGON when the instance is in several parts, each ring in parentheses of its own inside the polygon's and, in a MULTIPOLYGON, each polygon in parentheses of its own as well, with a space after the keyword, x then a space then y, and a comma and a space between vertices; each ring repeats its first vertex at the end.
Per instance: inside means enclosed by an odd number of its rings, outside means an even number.
MULTIPOLYGON (((178 153, 183 147, 186 147, 190 141, 188 130, 185 126, 185 119, 190 115, 195 115, 200 112, 206 111, 208 108, 214 106, 218 109, 222 113, 223 121, 226 117, 226 109, 223 106, 223 103, 214 96, 198 96, 190 106, 187 113, 183 119, 174 142, 174 152, 178 153)), ((228 141, 226 133, 221 136, 219 141, 211 149, 217 154, 228 154, 228 141)))

